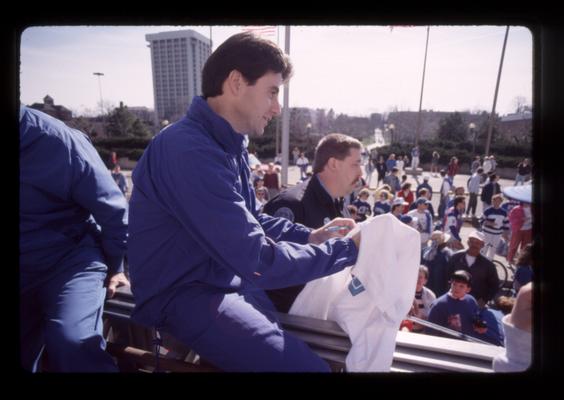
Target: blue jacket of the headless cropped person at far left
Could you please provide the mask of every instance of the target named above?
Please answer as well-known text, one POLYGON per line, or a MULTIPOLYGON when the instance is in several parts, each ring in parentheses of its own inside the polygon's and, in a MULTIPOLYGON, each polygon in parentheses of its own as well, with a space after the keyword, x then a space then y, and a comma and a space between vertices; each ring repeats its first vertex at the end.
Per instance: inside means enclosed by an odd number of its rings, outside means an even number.
POLYGON ((127 201, 82 132, 20 108, 22 292, 78 263, 123 270, 127 201))

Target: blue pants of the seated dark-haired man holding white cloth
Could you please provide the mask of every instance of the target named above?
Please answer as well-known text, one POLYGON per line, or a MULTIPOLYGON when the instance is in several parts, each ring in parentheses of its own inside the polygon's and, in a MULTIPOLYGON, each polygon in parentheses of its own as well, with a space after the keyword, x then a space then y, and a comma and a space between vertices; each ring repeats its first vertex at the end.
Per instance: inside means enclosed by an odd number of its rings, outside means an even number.
POLYGON ((330 372, 304 342, 280 328, 262 291, 180 289, 165 308, 159 329, 224 371, 330 372))

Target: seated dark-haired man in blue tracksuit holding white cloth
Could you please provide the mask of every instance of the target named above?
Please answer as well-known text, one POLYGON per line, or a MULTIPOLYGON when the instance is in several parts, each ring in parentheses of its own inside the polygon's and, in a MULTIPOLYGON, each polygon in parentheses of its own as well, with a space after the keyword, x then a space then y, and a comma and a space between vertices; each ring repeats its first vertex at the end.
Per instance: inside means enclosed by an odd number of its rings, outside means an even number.
POLYGON ((264 290, 330 275, 358 256, 359 235, 327 230, 350 229, 350 219, 312 231, 255 211, 245 134, 262 135, 280 113, 279 87, 290 75, 273 43, 232 36, 204 66, 203 96, 152 140, 133 172, 133 319, 225 371, 329 371, 280 328, 264 290))

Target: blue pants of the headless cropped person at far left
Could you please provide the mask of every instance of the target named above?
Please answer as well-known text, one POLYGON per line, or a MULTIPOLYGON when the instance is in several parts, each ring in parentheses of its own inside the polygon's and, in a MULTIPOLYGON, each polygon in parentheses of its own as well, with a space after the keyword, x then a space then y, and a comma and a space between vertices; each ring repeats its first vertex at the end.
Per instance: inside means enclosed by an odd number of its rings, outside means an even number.
POLYGON ((102 336, 106 266, 65 269, 20 295, 22 367, 38 370, 43 350, 51 372, 117 372, 102 336))

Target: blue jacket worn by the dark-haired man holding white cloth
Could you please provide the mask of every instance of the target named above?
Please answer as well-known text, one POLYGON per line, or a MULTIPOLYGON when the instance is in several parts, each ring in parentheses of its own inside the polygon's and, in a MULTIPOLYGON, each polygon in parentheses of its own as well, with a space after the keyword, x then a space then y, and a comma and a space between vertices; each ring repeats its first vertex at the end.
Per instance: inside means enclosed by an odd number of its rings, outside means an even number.
POLYGON ((255 211, 243 139, 195 97, 187 115, 155 136, 139 160, 128 246, 137 321, 158 324, 180 286, 275 289, 356 262, 351 239, 308 245, 309 228, 255 211))

